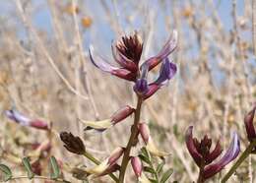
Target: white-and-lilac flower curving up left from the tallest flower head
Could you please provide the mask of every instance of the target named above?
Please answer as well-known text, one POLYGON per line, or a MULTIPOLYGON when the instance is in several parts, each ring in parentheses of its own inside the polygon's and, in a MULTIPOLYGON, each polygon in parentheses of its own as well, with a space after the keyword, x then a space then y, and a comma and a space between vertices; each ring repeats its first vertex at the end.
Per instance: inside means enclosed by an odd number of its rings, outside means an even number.
POLYGON ((99 56, 95 53, 93 46, 90 46, 89 56, 90 56, 90 60, 92 61, 92 63, 101 71, 110 73, 110 74, 117 76, 121 79, 125 79, 128 81, 135 81, 136 74, 131 73, 130 71, 128 71, 126 69, 122 69, 122 68, 118 68, 118 67, 114 67, 114 66, 110 65, 104 58, 102 58, 101 56, 99 56))

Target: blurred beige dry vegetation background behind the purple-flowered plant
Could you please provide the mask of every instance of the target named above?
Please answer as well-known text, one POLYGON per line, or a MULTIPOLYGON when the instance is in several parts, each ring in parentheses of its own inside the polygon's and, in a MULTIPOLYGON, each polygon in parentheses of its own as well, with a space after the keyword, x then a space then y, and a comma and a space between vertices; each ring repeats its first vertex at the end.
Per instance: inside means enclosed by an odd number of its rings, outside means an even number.
MULTIPOLYGON (((243 1, 242 11, 235 0, 228 1, 230 9, 226 11, 234 25, 231 30, 225 30, 218 11, 222 1, 159 1, 158 6, 146 0, 139 4, 115 0, 39 2, 0 3, 9 8, 8 14, 0 15, 0 161, 9 164, 16 175, 25 175, 19 160, 30 152, 25 144, 47 138, 52 140, 50 153, 62 161, 70 165, 92 163, 64 150, 56 134, 8 120, 3 111, 14 105, 29 116, 51 121, 56 132, 71 131, 83 137, 88 151, 98 158, 126 145, 131 118, 103 134, 85 134, 78 119, 104 119, 120 106, 135 105, 133 86, 97 70, 85 45, 94 43, 96 50, 104 49, 103 55, 111 55, 110 40, 134 30, 136 19, 142 20, 139 31, 147 40, 143 58, 156 53, 171 30, 179 33, 178 48, 172 55, 178 73, 167 88, 146 102, 142 114, 158 145, 171 152, 166 159, 174 168, 171 181, 192 182, 197 177, 198 169, 184 144, 184 131, 191 124, 197 137, 208 133, 215 140, 222 138, 224 147, 230 141, 230 132, 236 130, 244 150, 243 115, 256 100, 252 1, 243 1), (91 4, 96 4, 96 10, 91 4), (50 31, 36 26, 43 23, 34 23, 33 16, 41 10, 50 13, 50 31), (155 24, 160 19, 162 28, 155 24), (102 35, 108 33, 100 30, 102 27, 112 32, 105 40, 102 35)), ((43 163, 43 174, 47 175, 46 158, 43 163)), ((255 170, 256 158, 251 156, 230 182, 255 182, 255 170)), ((129 172, 134 182, 130 168, 129 172)), ((66 170, 64 177, 77 182, 66 170)), ((215 181, 218 179, 216 176, 215 181)), ((108 177, 101 180, 110 181, 108 177)))

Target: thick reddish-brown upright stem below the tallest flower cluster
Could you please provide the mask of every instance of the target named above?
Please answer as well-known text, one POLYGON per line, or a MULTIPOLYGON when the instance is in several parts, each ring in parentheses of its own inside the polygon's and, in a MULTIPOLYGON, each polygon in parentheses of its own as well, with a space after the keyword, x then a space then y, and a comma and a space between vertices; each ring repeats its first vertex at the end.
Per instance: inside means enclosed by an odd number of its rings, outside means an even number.
POLYGON ((134 146, 134 143, 136 143, 135 141, 136 141, 136 138, 137 138, 137 135, 139 132, 138 124, 139 124, 140 116, 141 116, 142 103, 143 103, 143 99, 140 96, 138 96, 137 107, 136 107, 135 116, 134 116, 134 123, 131 128, 131 136, 130 136, 129 142, 125 148, 122 163, 121 163, 121 170, 120 170, 120 174, 119 174, 119 183, 124 182, 126 167, 130 160, 130 152, 131 152, 132 147, 134 146))

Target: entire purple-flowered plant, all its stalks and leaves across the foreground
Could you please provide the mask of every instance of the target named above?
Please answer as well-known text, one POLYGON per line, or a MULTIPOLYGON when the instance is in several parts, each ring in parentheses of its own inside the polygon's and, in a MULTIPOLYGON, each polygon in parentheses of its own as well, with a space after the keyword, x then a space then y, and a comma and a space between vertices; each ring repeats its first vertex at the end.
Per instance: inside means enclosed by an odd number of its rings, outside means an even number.
MULTIPOLYGON (((134 176, 136 177, 134 182, 164 183, 168 181, 173 169, 166 169, 163 168, 163 166, 165 163, 164 157, 170 153, 164 152, 157 147, 147 122, 141 120, 140 116, 145 100, 149 99, 153 94, 159 91, 160 88, 166 86, 168 81, 174 77, 177 68, 173 62, 169 61, 168 56, 174 51, 176 46, 177 32, 174 30, 156 56, 141 61, 143 42, 138 32, 135 31, 134 34, 123 36, 120 40, 111 45, 113 58, 118 64, 118 67, 111 65, 101 55, 98 55, 93 46, 90 47, 89 56, 92 63, 98 69, 106 73, 131 82, 133 91, 137 96, 136 107, 124 104, 117 111, 114 111, 110 117, 98 121, 80 119, 85 125, 85 133, 92 130, 102 133, 106 130, 111 130, 111 127, 120 124, 129 116, 134 116, 134 121, 129 131, 129 137, 127 137, 128 142, 126 146, 116 147, 112 152, 107 154, 104 159, 99 160, 89 152, 79 136, 74 136, 69 132, 60 133, 60 140, 63 142, 64 148, 69 152, 84 155, 96 164, 93 167, 71 167, 67 166, 60 159, 55 159, 53 156, 48 158, 48 154, 53 148, 50 137, 53 133, 56 133, 51 128, 50 123, 29 117, 18 111, 16 108, 6 110, 6 116, 12 121, 15 121, 21 126, 34 128, 41 132, 47 132, 49 137, 49 139, 41 144, 36 146, 32 145, 35 147, 36 154, 32 153, 29 157, 32 158, 36 156, 36 161, 32 161, 31 164, 30 158, 23 158, 22 162, 27 168, 28 178, 69 182, 60 177, 61 171, 66 168, 65 170, 68 169, 67 171, 71 172, 73 176, 79 180, 86 181, 90 180, 90 178, 96 179, 107 175, 112 181, 123 183, 125 182, 125 175, 127 174, 126 169, 130 162, 134 171, 134 176), (151 73, 151 70, 159 64, 159 76, 155 81, 149 81, 148 75, 151 73), (131 154, 133 148, 139 147, 140 140, 143 142, 143 147, 140 147, 141 149, 136 155, 134 155, 134 153, 131 154), (40 158, 44 153, 47 154, 45 158, 49 159, 52 164, 53 175, 50 177, 40 176, 42 168, 40 166, 40 158), (163 169, 165 171, 163 171, 163 169)), ((249 154, 256 152, 256 130, 253 124, 255 111, 256 104, 253 105, 252 109, 244 117, 248 146, 245 146, 246 149, 240 154, 238 159, 231 164, 231 167, 224 175, 222 182, 226 182, 230 178, 249 154)), ((221 172, 227 164, 230 164, 240 152, 240 141, 236 132, 232 133, 230 144, 226 148, 226 151, 224 151, 224 154, 222 154, 223 148, 221 139, 213 148, 213 141, 207 135, 200 141, 193 137, 193 126, 188 127, 184 137, 186 148, 199 168, 198 183, 203 183, 213 178, 216 174, 221 172)), ((5 174, 5 181, 19 178, 13 177, 11 169, 5 164, 0 164, 0 170, 5 174)), ((27 176, 23 176, 23 178, 27 178, 27 176)))

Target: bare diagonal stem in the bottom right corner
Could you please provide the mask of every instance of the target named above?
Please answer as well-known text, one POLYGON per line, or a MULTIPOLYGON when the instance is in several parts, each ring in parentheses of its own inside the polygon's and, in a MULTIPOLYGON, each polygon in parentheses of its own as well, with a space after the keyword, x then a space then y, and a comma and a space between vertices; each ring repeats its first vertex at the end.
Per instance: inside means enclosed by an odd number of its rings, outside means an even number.
POLYGON ((244 161, 244 159, 251 153, 253 148, 256 147, 256 140, 253 140, 250 145, 246 148, 244 152, 240 155, 238 160, 232 165, 232 167, 229 169, 229 171, 224 175, 224 178, 222 180, 222 183, 226 182, 230 176, 234 173, 234 171, 237 169, 237 167, 244 161))

